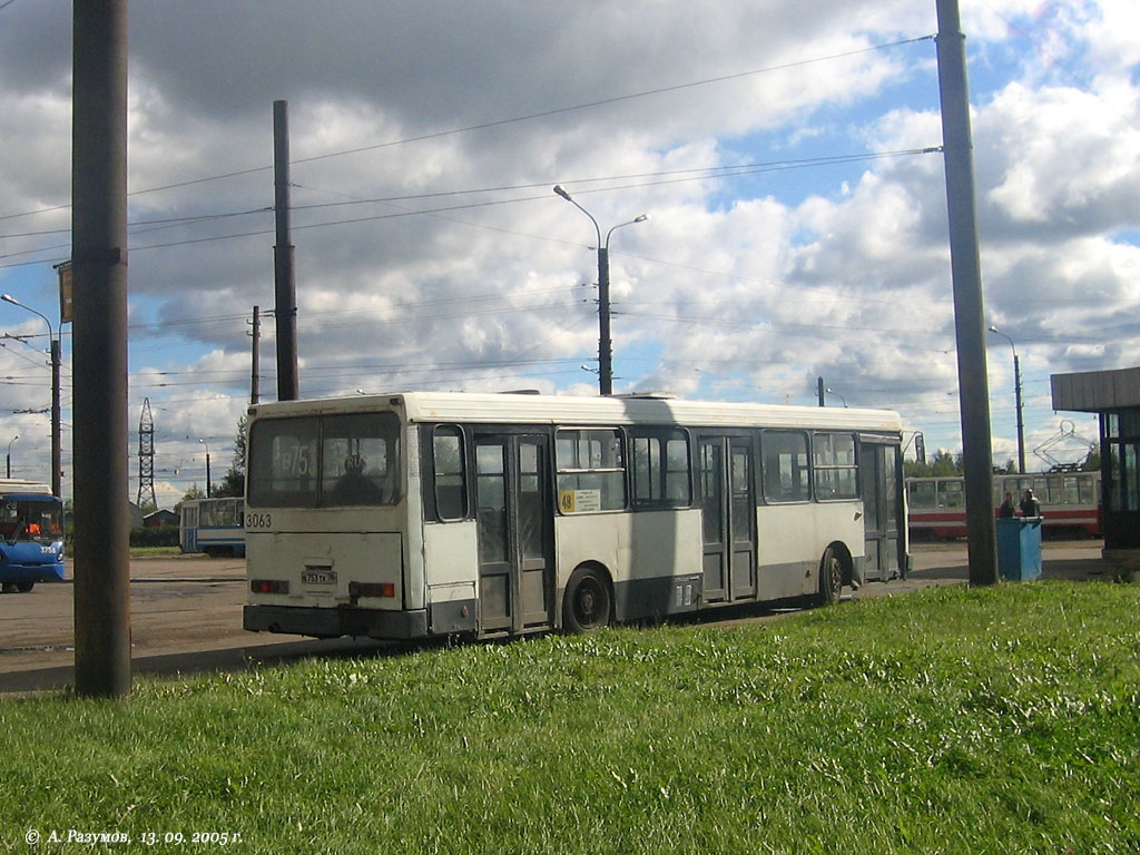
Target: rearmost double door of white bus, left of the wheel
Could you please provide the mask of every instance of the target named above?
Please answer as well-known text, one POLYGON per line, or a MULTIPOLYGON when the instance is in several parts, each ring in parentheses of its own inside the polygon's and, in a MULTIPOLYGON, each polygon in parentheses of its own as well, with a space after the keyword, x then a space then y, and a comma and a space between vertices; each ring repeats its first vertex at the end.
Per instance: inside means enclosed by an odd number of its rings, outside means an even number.
POLYGON ((546 437, 475 440, 479 626, 553 626, 554 507, 546 437))

